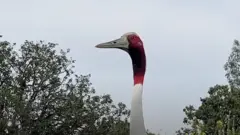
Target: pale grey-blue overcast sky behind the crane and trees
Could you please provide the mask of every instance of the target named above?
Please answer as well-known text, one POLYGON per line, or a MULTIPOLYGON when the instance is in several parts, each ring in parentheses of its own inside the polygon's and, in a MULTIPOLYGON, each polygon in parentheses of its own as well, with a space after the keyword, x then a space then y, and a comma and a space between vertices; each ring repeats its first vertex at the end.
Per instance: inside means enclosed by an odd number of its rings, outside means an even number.
POLYGON ((147 71, 145 125, 174 134, 183 108, 200 105, 209 87, 226 84, 223 65, 240 39, 238 0, 0 0, 3 40, 58 43, 70 48, 78 74, 91 74, 99 94, 130 107, 130 57, 94 46, 136 32, 144 42, 147 71))

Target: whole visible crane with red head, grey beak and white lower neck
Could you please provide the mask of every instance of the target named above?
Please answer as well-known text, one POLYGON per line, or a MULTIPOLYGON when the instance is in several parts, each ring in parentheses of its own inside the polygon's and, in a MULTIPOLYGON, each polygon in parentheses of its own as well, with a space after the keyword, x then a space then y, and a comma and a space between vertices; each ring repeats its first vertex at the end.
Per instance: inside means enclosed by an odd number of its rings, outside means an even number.
POLYGON ((135 32, 128 32, 118 39, 98 44, 96 47, 121 49, 131 57, 134 87, 131 101, 130 135, 146 135, 142 109, 146 55, 141 38, 135 32))

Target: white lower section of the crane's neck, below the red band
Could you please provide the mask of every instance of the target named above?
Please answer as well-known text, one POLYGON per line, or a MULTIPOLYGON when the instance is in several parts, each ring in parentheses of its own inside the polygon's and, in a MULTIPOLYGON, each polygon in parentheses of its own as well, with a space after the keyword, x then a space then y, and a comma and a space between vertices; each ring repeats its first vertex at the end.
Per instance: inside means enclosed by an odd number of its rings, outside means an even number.
POLYGON ((131 102, 130 135, 146 135, 142 109, 142 93, 143 85, 134 85, 131 102))

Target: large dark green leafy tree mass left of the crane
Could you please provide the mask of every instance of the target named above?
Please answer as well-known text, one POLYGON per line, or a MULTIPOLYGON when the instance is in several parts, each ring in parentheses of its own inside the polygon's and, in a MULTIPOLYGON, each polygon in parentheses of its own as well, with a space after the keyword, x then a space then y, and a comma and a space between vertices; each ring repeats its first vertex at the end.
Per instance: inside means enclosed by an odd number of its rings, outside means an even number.
POLYGON ((0 134, 126 135, 129 114, 110 95, 96 95, 90 75, 57 44, 0 42, 0 134))

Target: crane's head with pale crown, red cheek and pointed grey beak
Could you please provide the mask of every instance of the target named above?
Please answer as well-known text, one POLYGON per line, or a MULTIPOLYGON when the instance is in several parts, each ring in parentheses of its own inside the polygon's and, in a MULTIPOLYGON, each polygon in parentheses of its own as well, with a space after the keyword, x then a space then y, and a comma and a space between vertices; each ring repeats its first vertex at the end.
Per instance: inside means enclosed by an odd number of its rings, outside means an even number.
POLYGON ((133 48, 142 48, 143 42, 135 32, 123 34, 120 38, 96 45, 97 48, 118 48, 126 52, 133 48))

